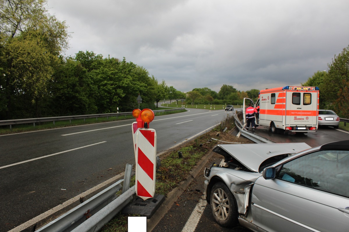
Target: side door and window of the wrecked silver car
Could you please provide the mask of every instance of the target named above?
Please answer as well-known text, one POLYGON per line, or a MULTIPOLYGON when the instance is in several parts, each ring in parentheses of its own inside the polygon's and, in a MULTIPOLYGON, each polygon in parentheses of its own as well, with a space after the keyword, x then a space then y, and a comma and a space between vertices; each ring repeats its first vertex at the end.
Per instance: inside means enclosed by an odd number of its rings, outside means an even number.
POLYGON ((269 232, 349 231, 348 151, 312 152, 279 167, 275 179, 259 177, 253 186, 253 224, 269 232))

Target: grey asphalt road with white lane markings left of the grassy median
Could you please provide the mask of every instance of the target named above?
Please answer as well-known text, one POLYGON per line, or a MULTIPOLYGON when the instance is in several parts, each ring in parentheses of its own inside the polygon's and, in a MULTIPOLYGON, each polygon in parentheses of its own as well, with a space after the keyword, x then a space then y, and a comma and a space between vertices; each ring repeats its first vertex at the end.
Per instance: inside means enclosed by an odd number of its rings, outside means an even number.
MULTIPOLYGON (((150 128, 157 133, 158 153, 216 125, 227 114, 190 109, 156 116, 150 128)), ((122 173, 126 163, 134 164, 134 121, 0 136, 0 232, 122 173)))

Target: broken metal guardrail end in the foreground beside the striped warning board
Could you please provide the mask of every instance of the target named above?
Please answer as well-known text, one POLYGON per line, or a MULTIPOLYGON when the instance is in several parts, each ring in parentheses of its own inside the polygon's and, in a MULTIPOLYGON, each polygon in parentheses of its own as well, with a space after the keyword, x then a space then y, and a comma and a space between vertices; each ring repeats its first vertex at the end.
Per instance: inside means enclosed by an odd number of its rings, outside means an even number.
POLYGON ((40 232, 92 232, 100 230, 132 200, 135 185, 129 188, 132 166, 126 165, 124 179, 107 187, 94 197, 54 219, 36 231, 40 232), (123 183, 123 185, 121 184, 123 183), (116 195, 122 189, 122 194, 116 195))

